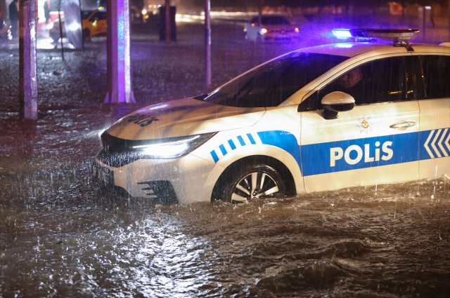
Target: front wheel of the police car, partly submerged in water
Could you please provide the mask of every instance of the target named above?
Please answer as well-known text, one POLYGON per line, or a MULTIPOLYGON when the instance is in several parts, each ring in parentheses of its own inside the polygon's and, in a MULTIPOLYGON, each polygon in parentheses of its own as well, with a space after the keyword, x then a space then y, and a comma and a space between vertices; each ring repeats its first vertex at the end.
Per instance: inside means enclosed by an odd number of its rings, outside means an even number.
POLYGON ((270 198, 286 193, 280 173, 269 165, 245 165, 229 174, 219 194, 222 201, 245 203, 253 198, 270 198))

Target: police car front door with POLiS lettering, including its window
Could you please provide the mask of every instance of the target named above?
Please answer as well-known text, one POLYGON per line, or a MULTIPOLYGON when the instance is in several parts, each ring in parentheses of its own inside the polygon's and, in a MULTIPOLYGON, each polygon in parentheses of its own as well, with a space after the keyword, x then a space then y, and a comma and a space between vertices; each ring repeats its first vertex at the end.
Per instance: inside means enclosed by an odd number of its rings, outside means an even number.
POLYGON ((307 192, 417 179, 419 107, 409 60, 402 54, 359 62, 300 104, 307 192), (336 90, 356 106, 326 120, 321 98, 336 90))

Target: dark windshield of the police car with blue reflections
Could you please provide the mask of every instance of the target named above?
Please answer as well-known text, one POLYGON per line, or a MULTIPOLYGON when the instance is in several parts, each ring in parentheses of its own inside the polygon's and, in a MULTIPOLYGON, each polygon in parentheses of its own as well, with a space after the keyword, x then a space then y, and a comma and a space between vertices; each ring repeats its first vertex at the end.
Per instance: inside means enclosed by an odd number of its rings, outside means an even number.
POLYGON ((198 99, 228 107, 276 107, 307 83, 347 59, 337 55, 290 53, 198 99))

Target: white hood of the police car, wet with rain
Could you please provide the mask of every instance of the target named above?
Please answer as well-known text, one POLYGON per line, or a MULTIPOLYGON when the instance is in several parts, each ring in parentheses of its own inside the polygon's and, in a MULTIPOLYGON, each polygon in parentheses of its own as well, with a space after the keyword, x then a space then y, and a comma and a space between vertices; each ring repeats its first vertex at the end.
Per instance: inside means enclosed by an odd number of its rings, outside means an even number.
POLYGON ((125 140, 152 140, 252 126, 264 107, 238 108, 193 98, 144 107, 121 118, 106 132, 125 140))

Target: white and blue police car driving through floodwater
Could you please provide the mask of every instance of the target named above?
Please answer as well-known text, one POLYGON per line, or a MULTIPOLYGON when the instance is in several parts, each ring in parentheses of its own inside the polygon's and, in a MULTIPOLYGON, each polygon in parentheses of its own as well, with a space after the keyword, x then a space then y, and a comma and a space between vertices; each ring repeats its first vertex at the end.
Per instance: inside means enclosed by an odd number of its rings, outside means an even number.
POLYGON ((247 202, 450 175, 450 48, 418 30, 337 29, 212 93, 101 135, 95 180, 167 203, 247 202))

